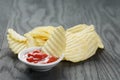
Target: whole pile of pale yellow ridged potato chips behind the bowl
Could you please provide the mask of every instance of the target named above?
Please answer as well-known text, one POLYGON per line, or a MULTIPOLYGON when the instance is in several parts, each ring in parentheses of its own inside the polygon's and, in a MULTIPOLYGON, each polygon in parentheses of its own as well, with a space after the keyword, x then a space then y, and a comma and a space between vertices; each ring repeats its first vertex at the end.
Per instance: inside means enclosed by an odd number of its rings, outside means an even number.
POLYGON ((62 26, 36 27, 23 36, 8 29, 7 39, 11 50, 18 54, 21 50, 40 46, 43 52, 64 59, 79 62, 95 54, 97 48, 104 45, 93 25, 80 24, 64 30, 62 26))

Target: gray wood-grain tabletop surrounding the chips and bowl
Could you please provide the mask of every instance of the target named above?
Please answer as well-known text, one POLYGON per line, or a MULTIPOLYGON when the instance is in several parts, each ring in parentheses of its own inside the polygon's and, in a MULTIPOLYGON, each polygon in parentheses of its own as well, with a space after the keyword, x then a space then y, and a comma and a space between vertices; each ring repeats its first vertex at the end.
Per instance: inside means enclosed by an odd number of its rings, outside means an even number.
POLYGON ((0 80, 120 80, 120 0, 0 0, 0 80), (105 45, 90 59, 35 72, 8 48, 7 28, 93 24, 105 45))

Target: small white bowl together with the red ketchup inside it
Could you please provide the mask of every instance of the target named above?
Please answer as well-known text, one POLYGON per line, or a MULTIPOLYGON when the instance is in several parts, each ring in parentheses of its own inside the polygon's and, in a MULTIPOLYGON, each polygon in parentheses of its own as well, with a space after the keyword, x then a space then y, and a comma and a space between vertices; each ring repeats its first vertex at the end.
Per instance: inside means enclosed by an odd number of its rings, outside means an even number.
POLYGON ((59 57, 44 53, 41 47, 30 47, 19 52, 18 59, 35 71, 48 71, 60 63, 64 54, 59 57))

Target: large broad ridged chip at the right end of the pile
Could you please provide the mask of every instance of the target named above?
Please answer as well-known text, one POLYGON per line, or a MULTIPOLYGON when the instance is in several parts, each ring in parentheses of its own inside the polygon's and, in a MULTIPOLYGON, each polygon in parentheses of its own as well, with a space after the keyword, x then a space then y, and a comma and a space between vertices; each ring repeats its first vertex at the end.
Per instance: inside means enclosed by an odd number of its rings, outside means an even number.
POLYGON ((74 34, 68 31, 66 33, 65 59, 71 62, 86 60, 95 54, 99 46, 103 48, 93 25, 74 34))

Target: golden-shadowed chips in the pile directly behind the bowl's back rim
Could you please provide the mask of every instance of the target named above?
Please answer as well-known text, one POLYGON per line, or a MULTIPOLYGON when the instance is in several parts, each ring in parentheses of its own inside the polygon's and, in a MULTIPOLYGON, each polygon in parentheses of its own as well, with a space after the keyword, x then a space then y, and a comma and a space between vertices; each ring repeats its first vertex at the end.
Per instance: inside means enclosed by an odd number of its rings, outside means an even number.
POLYGON ((55 28, 53 26, 36 27, 24 36, 28 39, 28 46, 43 46, 49 39, 51 33, 55 28))

